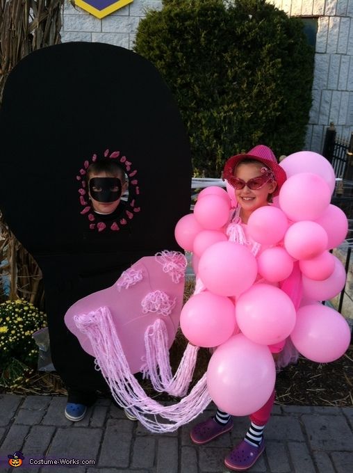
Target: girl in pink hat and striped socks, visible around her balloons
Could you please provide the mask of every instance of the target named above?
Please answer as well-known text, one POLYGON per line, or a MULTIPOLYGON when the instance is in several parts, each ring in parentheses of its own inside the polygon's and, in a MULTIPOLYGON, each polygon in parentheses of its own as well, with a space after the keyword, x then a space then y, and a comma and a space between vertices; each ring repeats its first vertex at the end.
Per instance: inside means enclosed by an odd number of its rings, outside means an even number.
MULTIPOLYGON (((247 221, 252 212, 270 205, 272 196, 279 193, 286 180, 286 173, 278 166, 272 150, 258 145, 247 154, 238 154, 225 163, 224 179, 234 188, 238 207, 231 216, 227 227, 230 241, 246 245, 254 255, 261 252, 261 245, 247 236, 247 221)), ((270 346, 274 358, 282 351, 284 342, 270 346)), ((224 460, 230 470, 248 470, 265 449, 263 428, 270 419, 274 403, 274 391, 265 405, 250 415, 251 424, 245 438, 224 460)), ((192 428, 190 437, 196 444, 206 444, 233 428, 233 420, 227 412, 217 409, 214 417, 192 428)))

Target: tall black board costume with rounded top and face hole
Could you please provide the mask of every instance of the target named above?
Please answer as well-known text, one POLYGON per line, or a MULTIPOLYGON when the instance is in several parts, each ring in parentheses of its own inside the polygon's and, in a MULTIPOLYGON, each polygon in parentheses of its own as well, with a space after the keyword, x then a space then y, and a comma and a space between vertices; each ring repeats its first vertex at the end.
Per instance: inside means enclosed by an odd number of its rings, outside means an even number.
POLYGON ((174 227, 190 208, 191 164, 177 106, 138 54, 72 42, 16 65, 0 130, 0 208, 42 270, 54 366, 73 390, 105 389, 63 317, 140 257, 180 250, 174 227), (82 184, 104 156, 132 173, 114 221, 92 213, 82 184))

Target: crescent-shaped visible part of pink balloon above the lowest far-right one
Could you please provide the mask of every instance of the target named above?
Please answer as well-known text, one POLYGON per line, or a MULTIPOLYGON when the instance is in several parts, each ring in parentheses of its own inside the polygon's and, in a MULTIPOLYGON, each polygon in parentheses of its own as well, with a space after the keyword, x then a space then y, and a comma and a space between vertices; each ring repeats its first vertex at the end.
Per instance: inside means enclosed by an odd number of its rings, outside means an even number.
POLYGON ((315 281, 303 275, 304 296, 314 300, 329 300, 340 294, 340 291, 345 287, 345 267, 336 256, 334 256, 334 260, 334 272, 323 281, 315 281))

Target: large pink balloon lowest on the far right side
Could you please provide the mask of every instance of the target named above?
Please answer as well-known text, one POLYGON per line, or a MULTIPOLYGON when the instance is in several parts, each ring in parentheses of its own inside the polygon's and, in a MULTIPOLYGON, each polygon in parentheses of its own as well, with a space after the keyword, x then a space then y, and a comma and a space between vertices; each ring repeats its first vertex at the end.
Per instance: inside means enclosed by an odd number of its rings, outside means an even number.
POLYGON ((322 304, 300 307, 290 335, 297 351, 318 363, 340 358, 350 345, 350 337, 350 326, 344 317, 322 304))

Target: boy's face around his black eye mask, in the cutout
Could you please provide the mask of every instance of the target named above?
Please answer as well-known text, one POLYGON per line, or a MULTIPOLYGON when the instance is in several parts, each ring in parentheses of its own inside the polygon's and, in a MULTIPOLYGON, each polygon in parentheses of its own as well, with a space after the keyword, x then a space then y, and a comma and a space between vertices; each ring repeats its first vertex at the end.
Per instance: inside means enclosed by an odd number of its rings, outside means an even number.
POLYGON ((97 211, 99 214, 112 214, 113 211, 115 211, 117 206, 120 204, 120 196, 126 191, 127 182, 124 182, 124 184, 121 185, 122 192, 121 192, 121 195, 120 195, 120 185, 117 185, 119 183, 110 182, 110 180, 109 180, 109 182, 107 183, 107 184, 109 184, 108 191, 110 191, 110 193, 112 195, 114 195, 114 194, 119 195, 119 198, 114 199, 114 197, 113 197, 111 202, 101 202, 100 200, 97 200, 97 199, 92 197, 92 195, 95 195, 95 197, 97 197, 97 196, 99 196, 99 193, 103 193, 104 191, 106 191, 106 189, 104 189, 103 186, 101 186, 99 182, 92 181, 92 179, 97 178, 97 177, 98 178, 99 177, 108 177, 112 181, 113 181, 113 179, 111 179, 111 178, 115 178, 115 179, 117 178, 117 179, 120 180, 120 184, 121 184, 122 176, 113 176, 113 175, 110 175, 110 174, 106 173, 105 171, 101 171, 100 173, 92 173, 90 175, 89 195, 90 195, 90 200, 92 202, 93 209, 95 211, 97 211))

